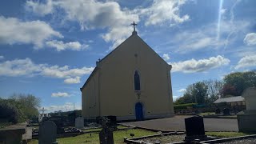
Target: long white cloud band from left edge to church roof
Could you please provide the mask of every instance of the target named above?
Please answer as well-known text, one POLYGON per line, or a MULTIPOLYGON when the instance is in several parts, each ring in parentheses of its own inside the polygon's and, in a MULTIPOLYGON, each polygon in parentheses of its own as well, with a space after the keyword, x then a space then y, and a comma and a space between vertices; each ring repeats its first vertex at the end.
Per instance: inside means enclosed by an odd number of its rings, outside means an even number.
POLYGON ((51 78, 64 78, 65 83, 80 82, 81 76, 90 74, 93 67, 82 67, 70 69, 69 66, 49 66, 47 64, 35 64, 26 59, 15 59, 12 61, 0 62, 0 75, 2 76, 34 76, 42 75, 51 78))

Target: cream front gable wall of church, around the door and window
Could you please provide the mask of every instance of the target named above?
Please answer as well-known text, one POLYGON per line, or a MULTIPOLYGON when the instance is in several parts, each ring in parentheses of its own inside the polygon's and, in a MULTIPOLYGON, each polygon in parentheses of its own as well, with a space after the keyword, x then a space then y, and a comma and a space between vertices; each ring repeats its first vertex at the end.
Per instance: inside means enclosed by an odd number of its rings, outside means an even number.
POLYGON ((142 102, 145 118, 174 114, 170 66, 137 35, 100 62, 100 115, 134 119, 135 104, 142 102), (135 57, 137 54, 137 57, 135 57), (138 70, 141 96, 134 93, 134 71, 138 70))

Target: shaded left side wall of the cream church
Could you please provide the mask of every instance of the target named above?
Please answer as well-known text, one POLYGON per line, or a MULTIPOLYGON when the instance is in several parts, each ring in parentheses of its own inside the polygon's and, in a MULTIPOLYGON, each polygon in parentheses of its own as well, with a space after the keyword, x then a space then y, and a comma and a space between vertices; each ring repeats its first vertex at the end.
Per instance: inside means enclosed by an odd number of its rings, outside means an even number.
POLYGON ((96 71, 82 89, 82 117, 85 119, 95 118, 99 115, 98 74, 99 72, 96 71))

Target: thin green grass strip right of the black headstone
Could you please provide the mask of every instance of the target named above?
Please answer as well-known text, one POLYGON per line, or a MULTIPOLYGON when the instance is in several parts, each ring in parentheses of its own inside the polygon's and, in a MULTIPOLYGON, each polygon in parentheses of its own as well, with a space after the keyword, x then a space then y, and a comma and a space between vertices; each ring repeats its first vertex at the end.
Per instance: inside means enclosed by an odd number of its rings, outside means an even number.
POLYGON ((240 132, 206 132, 206 135, 210 135, 218 138, 230 138, 250 135, 250 133, 240 133, 240 132))

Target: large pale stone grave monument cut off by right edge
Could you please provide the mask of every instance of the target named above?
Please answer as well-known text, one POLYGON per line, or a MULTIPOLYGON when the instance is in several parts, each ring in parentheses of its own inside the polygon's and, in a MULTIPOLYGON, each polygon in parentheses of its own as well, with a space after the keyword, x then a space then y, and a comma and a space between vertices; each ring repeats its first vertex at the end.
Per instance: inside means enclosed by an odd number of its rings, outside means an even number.
POLYGON ((238 129, 241 132, 256 132, 256 87, 243 91, 242 97, 246 101, 244 114, 238 114, 238 129))

